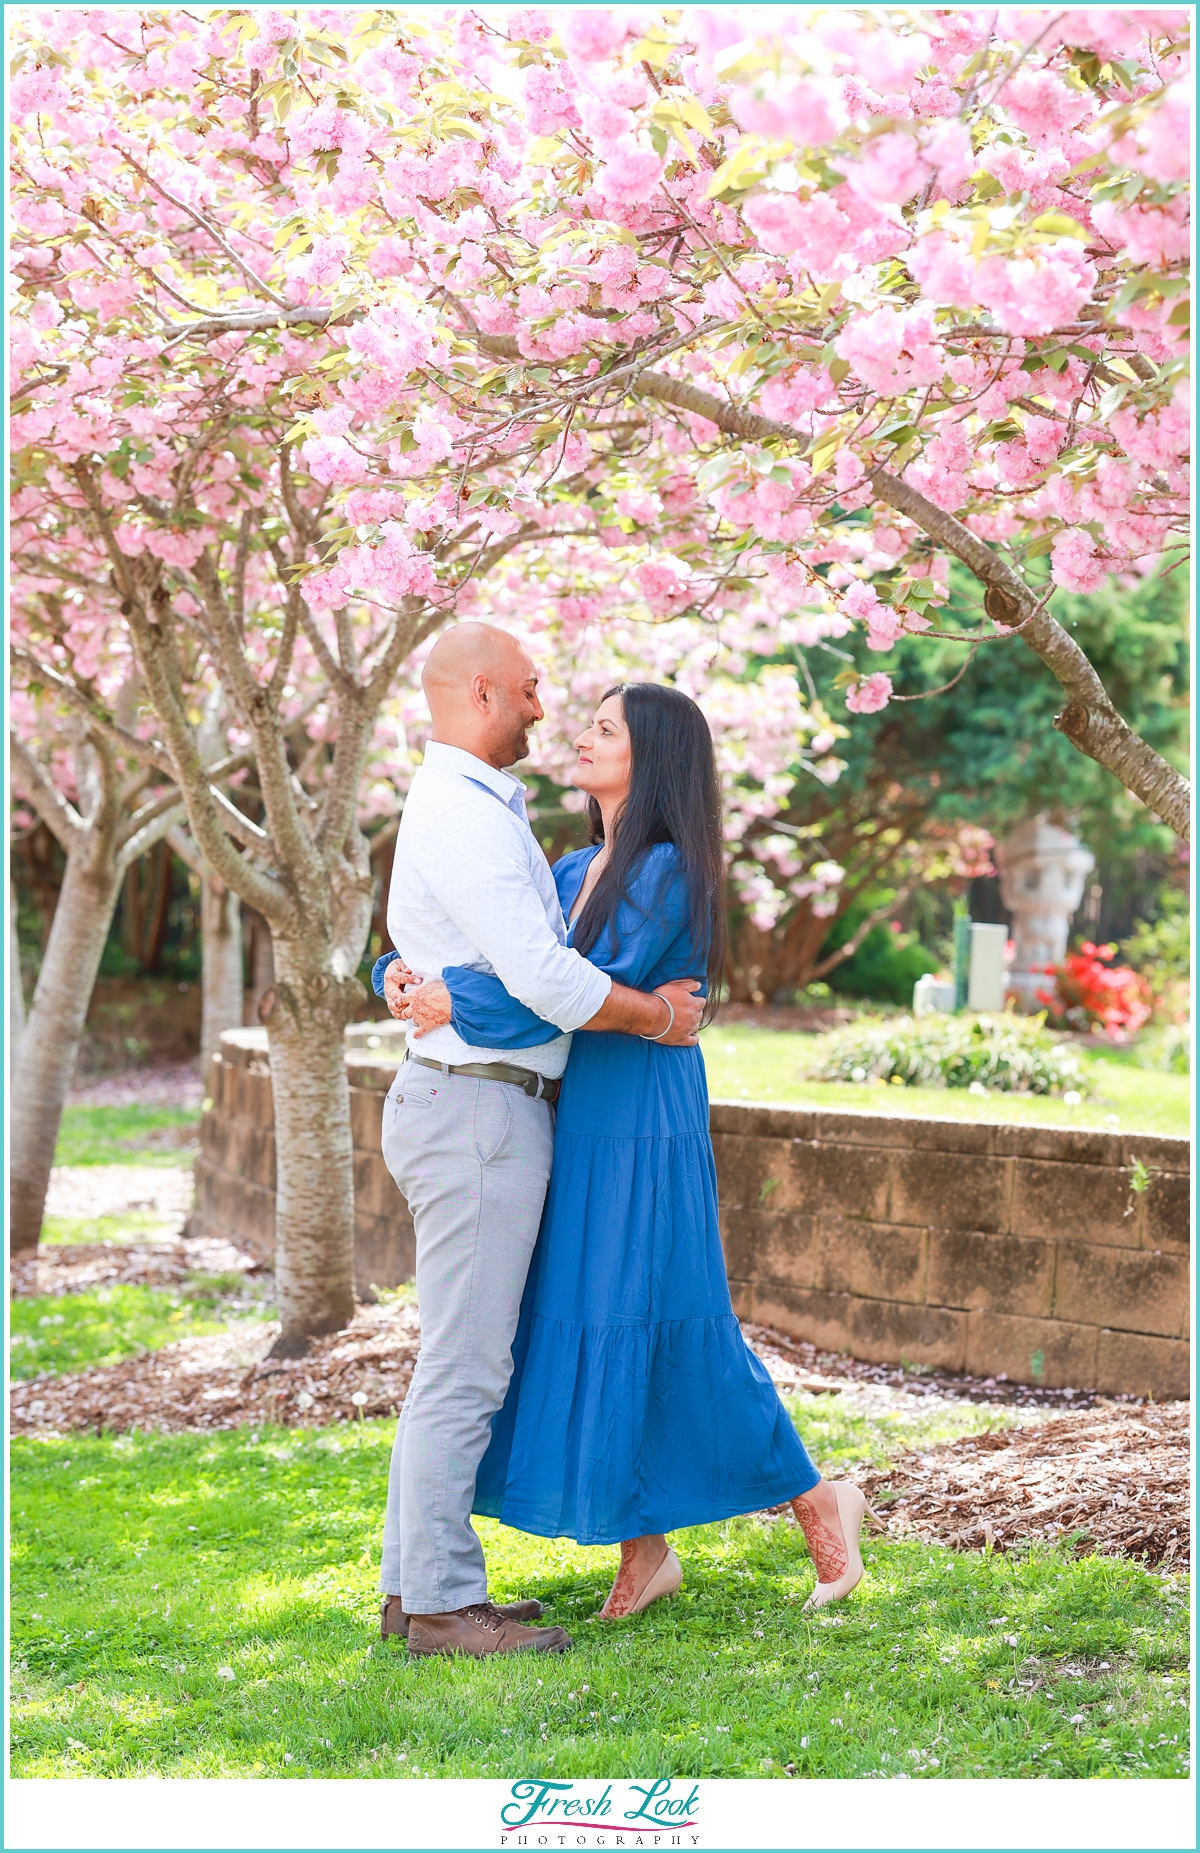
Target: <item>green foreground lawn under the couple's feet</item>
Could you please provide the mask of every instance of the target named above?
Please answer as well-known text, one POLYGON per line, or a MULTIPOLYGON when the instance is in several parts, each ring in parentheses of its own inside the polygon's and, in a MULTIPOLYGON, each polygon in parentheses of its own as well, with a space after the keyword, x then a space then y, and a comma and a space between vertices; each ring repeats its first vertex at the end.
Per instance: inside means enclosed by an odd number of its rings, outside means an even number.
POLYGON ((411 1662, 376 1625, 391 1436, 17 1440, 13 1775, 1185 1771, 1183 1581, 1054 1549, 872 1544, 806 1618, 798 1534, 735 1519, 678 1534, 681 1595, 613 1627, 615 1549, 481 1521, 493 1595, 541 1595, 576 1651, 411 1662))

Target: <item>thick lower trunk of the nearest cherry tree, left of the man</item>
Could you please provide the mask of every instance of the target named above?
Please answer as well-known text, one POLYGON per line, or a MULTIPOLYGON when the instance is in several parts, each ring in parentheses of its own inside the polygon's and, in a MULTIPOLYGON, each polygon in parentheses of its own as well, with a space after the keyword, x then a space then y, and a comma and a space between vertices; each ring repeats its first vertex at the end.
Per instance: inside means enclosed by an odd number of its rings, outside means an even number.
POLYGON ((276 1356, 354 1316, 354 1145, 344 1027, 361 995, 328 956, 276 936, 276 984, 259 1001, 270 1038, 276 1128, 276 1356), (324 969, 322 969, 324 967, 324 969))

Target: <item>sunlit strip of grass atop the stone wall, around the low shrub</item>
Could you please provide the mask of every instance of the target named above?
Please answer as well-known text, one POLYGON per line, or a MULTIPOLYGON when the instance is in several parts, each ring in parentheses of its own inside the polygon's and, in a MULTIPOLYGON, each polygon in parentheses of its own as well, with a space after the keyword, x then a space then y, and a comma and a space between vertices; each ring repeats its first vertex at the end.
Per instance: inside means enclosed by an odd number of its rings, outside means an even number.
POLYGON ((815 1036, 717 1021, 700 1045, 715 1101, 767 1101, 778 1106, 867 1108, 876 1114, 928 1114, 933 1119, 991 1119, 1007 1125, 1100 1127, 1115 1132, 1191 1132, 1189 1075, 1137 1067, 1122 1054, 1089 1056, 1093 1093, 1078 1106, 1020 1093, 980 1097, 965 1088, 854 1086, 804 1080, 815 1036))

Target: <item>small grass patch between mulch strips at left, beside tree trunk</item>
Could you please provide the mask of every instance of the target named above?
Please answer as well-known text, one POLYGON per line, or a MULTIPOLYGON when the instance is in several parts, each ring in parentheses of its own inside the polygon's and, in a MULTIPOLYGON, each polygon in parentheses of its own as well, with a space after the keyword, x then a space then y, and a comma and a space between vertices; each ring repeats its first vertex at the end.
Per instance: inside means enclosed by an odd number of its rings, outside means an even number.
POLYGON ((231 1319, 270 1317, 246 1295, 244 1275, 198 1275, 176 1292, 152 1286, 94 1286, 80 1293, 15 1299, 9 1308, 9 1375, 41 1377, 119 1364, 228 1330, 231 1319))

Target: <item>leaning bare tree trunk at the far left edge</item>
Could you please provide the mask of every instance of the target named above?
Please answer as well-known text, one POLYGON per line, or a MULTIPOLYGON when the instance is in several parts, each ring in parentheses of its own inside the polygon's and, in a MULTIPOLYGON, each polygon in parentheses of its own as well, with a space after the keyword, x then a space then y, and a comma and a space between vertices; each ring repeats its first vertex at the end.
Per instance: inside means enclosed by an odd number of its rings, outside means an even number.
POLYGON ((50 1167, 63 1103, 74 1075, 100 954, 120 891, 115 860, 100 860, 94 845, 69 858, 46 956, 20 1041, 15 1073, 11 1138, 11 1247, 35 1249, 41 1236, 50 1167))

